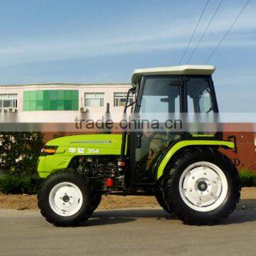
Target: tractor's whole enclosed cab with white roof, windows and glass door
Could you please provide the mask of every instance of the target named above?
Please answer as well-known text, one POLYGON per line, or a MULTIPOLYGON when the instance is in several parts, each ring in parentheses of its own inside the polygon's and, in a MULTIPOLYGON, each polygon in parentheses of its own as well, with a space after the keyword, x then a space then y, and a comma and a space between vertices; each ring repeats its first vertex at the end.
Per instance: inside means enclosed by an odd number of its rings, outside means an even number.
MULTIPOLYGON (((167 113, 218 112, 211 75, 211 65, 183 65, 169 68, 134 70, 132 90, 136 102, 133 112, 150 113, 155 119, 167 113)), ((124 111, 127 110, 127 106, 124 111)), ((126 134, 124 134, 126 136, 126 134)), ((184 132, 131 132, 129 134, 129 161, 133 184, 150 184, 156 181, 157 162, 171 144, 179 139, 189 139, 196 134, 184 132)), ((200 133, 203 139, 203 133, 200 133)), ((213 134, 214 136, 214 134, 213 134)), ((207 134, 207 139, 209 134, 207 134)), ((125 141, 123 140, 124 144, 125 141)), ((124 148, 125 145, 122 145, 124 148)))

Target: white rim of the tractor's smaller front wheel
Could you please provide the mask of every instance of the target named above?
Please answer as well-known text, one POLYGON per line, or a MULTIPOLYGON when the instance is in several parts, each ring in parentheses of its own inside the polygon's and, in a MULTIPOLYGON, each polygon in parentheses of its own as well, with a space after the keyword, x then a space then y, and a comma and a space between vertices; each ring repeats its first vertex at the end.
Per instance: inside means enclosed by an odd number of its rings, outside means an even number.
POLYGON ((82 207, 82 192, 70 182, 55 185, 49 194, 50 208, 60 216, 71 216, 82 207))

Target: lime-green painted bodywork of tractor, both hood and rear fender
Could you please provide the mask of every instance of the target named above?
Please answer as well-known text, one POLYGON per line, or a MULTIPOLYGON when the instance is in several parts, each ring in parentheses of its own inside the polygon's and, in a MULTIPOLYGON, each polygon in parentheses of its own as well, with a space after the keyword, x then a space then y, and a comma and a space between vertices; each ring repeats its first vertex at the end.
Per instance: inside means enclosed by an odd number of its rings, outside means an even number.
MULTIPOLYGON (((40 178, 46 178, 58 169, 66 169, 74 156, 106 156, 121 153, 122 134, 91 134, 75 135, 53 139, 46 146, 58 146, 54 155, 40 156, 38 160, 38 174, 40 178)), ((166 165, 177 151, 186 146, 220 146, 234 148, 233 142, 210 139, 193 139, 177 142, 169 149, 161 160, 157 170, 157 179, 164 174, 166 165)))

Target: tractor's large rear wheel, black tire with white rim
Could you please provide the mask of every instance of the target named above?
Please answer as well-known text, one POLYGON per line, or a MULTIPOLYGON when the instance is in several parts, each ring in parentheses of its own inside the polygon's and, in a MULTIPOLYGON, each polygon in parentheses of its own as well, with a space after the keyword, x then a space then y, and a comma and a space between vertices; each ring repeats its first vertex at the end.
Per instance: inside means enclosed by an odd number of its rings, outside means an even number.
POLYGON ((240 178, 227 156, 212 148, 186 149, 164 174, 164 201, 190 225, 213 225, 233 213, 240 178))

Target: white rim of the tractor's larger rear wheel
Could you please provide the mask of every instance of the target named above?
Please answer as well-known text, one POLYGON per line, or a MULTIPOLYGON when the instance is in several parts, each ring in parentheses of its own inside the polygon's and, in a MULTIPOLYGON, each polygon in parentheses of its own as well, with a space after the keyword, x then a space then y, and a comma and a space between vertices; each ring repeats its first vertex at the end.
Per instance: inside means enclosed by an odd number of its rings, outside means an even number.
POLYGON ((187 206, 206 212, 223 203, 228 193, 228 181, 218 166, 200 161, 183 171, 178 189, 187 206))

